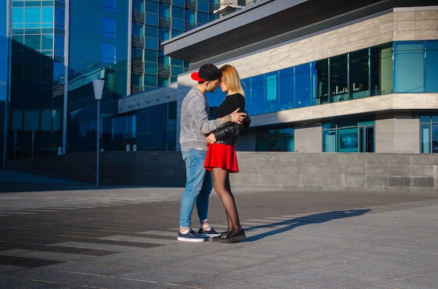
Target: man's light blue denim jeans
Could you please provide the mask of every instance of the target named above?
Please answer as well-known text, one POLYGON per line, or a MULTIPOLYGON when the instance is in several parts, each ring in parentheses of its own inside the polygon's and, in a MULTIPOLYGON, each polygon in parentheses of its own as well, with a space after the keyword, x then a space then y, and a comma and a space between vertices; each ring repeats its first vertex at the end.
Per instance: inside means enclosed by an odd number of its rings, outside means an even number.
POLYGON ((190 229, 193 207, 199 216, 199 223, 209 221, 209 196, 213 188, 211 172, 204 168, 207 151, 204 149, 185 149, 181 151, 185 161, 185 191, 181 198, 179 225, 190 229))

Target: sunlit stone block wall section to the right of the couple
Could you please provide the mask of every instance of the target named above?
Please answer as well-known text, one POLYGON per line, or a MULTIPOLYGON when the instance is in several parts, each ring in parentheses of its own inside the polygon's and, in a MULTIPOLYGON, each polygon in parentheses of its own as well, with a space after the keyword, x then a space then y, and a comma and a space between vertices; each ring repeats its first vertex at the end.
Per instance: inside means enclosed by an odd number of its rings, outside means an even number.
POLYGON ((435 154, 237 152, 234 188, 438 192, 435 154))

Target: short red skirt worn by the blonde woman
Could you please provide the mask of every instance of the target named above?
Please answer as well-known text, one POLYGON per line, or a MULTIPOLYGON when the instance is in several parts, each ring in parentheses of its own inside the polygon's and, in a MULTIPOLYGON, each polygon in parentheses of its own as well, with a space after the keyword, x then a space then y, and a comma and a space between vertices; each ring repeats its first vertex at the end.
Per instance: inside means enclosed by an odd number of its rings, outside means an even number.
POLYGON ((229 144, 209 144, 204 168, 207 170, 211 170, 212 168, 222 168, 229 172, 239 172, 236 147, 229 144))

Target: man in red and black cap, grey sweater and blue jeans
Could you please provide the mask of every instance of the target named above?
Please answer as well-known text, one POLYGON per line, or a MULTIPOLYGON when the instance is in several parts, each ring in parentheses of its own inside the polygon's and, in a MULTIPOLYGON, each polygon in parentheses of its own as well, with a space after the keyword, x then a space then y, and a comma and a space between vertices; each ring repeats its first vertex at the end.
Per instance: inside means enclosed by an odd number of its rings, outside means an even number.
POLYGON ((204 168, 208 144, 206 135, 229 121, 241 124, 243 112, 239 108, 220 119, 210 119, 209 104, 205 96, 220 85, 222 73, 213 64, 205 64, 199 71, 192 73, 192 80, 198 84, 192 87, 181 105, 181 154, 185 161, 185 191, 180 205, 180 230, 178 240, 186 242, 204 242, 209 237, 220 235, 209 223, 209 195, 213 182, 211 172, 204 168), (191 216, 197 207, 199 216, 199 235, 192 230, 191 216))

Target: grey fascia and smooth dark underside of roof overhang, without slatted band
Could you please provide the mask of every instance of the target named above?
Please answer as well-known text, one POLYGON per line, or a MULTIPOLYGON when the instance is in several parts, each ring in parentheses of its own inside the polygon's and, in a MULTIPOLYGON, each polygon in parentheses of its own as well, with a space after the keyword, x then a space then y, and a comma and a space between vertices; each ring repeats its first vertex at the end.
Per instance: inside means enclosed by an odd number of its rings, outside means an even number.
POLYGON ((164 41, 164 54, 193 63, 374 2, 263 0, 164 41))

